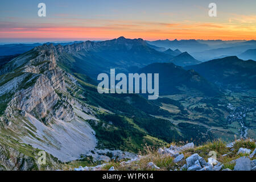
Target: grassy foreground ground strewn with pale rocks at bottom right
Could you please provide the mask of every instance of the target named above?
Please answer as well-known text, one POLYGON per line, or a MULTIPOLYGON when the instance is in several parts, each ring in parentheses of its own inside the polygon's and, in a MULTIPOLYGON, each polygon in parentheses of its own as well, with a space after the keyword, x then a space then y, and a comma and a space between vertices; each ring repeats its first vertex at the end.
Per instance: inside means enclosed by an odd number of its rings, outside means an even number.
MULTIPOLYGON (((255 171, 255 140, 236 140, 225 144, 217 140, 195 147, 170 145, 154 150, 146 147, 145 154, 130 160, 113 160, 98 166, 73 168, 75 171, 157 170, 157 171, 255 171)), ((69 168, 71 170, 71 168, 69 168)))

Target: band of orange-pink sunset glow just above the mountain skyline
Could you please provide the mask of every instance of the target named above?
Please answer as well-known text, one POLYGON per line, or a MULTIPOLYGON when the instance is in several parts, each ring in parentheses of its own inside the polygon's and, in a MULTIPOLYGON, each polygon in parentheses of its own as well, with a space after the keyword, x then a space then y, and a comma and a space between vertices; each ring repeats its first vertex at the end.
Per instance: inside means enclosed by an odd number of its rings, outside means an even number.
POLYGON ((134 23, 118 22, 101 26, 0 28, 0 38, 10 39, 256 39, 256 26, 237 23, 134 23))

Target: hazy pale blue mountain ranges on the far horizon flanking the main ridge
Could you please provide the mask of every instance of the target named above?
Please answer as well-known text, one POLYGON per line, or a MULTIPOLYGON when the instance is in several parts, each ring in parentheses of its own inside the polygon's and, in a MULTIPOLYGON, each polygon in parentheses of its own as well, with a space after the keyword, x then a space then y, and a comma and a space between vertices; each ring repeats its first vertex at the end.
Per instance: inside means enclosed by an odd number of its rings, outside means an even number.
MULTIPOLYGON (((74 43, 81 43, 82 41, 76 42, 65 42, 65 43, 46 43, 47 45, 53 44, 56 46, 67 46, 74 43)), ((98 42, 98 41, 97 41, 98 42)), ((179 49, 182 52, 188 52, 190 55, 195 57, 199 61, 208 61, 211 59, 217 59, 226 56, 240 56, 243 52, 249 49, 256 49, 255 40, 156 40, 146 41, 147 46, 156 51, 164 52, 167 49, 179 49)), ((24 53, 35 46, 42 46, 41 43, 35 44, 4 44, 0 45, 0 56, 3 55, 14 55, 18 53, 24 53)), ((170 52, 168 53, 170 54, 170 52)), ((176 56, 172 54, 172 56, 176 56)), ((250 56, 241 57, 241 59, 255 60, 255 54, 250 56)))

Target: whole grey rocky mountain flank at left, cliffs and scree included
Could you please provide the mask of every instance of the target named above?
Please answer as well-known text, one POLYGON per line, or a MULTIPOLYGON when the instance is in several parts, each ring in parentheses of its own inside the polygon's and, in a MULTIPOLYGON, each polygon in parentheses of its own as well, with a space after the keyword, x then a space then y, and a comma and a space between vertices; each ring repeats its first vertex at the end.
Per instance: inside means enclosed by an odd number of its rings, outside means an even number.
MULTIPOLYGON (((93 150, 97 140, 87 119, 93 110, 67 92, 72 76, 60 69, 51 46, 40 46, 9 61, 0 76, 0 144, 38 148, 65 162, 93 150), (86 111, 86 113, 85 113, 86 111), (11 138, 11 140, 9 139, 11 138)), ((74 80, 73 80, 74 81, 74 80)), ((24 148, 26 148, 24 147, 24 148)), ((0 148, 2 158, 9 159, 0 148)), ((33 152, 24 155, 35 158, 33 152)), ((18 160, 19 155, 15 160, 18 160)), ((26 156, 26 157, 25 157, 26 156)), ((3 160, 3 161, 6 161, 3 160)), ((3 165, 5 169, 22 168, 3 165)), ((26 169, 29 169, 29 164, 26 169)))

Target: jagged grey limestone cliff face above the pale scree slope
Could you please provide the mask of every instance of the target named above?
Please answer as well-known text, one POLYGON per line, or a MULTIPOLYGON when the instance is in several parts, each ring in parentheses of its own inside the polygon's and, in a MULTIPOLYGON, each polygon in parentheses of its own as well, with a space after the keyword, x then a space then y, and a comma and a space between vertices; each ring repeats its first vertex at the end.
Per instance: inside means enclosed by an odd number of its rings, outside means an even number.
POLYGON ((38 56, 23 66, 28 75, 23 81, 25 86, 17 90, 7 107, 7 115, 15 110, 30 113, 39 120, 48 123, 51 118, 71 121, 75 114, 67 98, 60 98, 57 92, 65 92, 63 71, 56 65, 56 55, 51 47, 35 48, 38 56))

